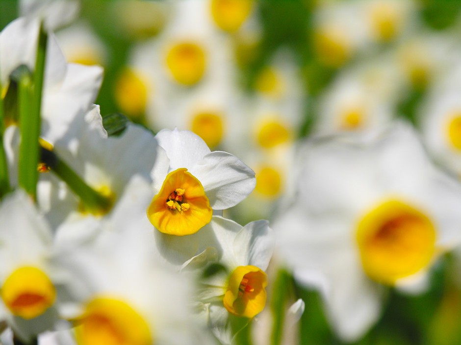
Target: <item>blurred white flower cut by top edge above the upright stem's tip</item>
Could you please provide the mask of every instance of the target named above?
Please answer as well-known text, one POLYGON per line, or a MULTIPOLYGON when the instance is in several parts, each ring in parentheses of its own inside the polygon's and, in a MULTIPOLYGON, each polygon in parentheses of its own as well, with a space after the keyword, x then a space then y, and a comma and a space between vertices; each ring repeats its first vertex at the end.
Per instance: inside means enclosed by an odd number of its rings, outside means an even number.
POLYGON ((73 22, 80 11, 79 0, 21 0, 20 15, 38 18, 46 30, 56 30, 73 22))

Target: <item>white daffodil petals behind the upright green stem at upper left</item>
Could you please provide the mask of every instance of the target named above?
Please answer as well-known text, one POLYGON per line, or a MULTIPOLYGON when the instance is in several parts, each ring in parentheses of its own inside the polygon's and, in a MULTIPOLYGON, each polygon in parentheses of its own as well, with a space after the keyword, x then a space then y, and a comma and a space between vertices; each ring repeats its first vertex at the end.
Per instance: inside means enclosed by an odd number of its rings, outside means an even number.
MULTIPOLYGON (((19 18, 0 33, 0 96, 8 97, 9 77, 20 65, 35 69, 39 32, 38 21, 19 18)), ((72 137, 72 123, 83 118, 102 82, 102 68, 67 64, 56 39, 49 35, 42 96, 41 137, 54 144, 63 137, 72 137)), ((8 109, 7 109, 8 113, 8 109)), ((7 124, 17 119, 8 118, 7 124)))

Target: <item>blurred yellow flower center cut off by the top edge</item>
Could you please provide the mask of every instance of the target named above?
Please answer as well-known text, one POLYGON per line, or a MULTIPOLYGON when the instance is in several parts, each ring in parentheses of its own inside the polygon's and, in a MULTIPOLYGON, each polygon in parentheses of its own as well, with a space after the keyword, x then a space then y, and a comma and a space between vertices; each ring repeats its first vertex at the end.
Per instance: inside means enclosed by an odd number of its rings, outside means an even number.
POLYGON ((222 30, 234 32, 248 18, 252 0, 211 0, 211 15, 222 30))

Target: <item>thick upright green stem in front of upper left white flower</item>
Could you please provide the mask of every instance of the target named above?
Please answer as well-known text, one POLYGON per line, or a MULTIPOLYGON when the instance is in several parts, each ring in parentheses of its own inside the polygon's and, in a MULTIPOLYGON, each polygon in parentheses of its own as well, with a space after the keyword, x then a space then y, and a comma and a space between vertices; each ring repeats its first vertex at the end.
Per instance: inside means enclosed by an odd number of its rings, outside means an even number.
POLYGON ((21 147, 19 149, 19 185, 34 199, 37 193, 40 136, 40 113, 42 106, 43 80, 48 35, 40 27, 37 45, 35 71, 32 80, 26 77, 20 82, 20 129, 21 147))

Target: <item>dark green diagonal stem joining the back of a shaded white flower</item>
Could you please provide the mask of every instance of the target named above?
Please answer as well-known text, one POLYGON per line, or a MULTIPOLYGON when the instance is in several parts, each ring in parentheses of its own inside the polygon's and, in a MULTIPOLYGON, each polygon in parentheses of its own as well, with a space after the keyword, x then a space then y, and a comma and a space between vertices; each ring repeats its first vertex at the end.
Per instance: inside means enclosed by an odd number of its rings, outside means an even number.
POLYGON ((113 201, 98 193, 86 184, 72 168, 62 161, 54 152, 41 148, 41 161, 44 162, 52 172, 63 180, 69 188, 80 198, 86 211, 92 214, 105 214, 113 206, 113 201))

